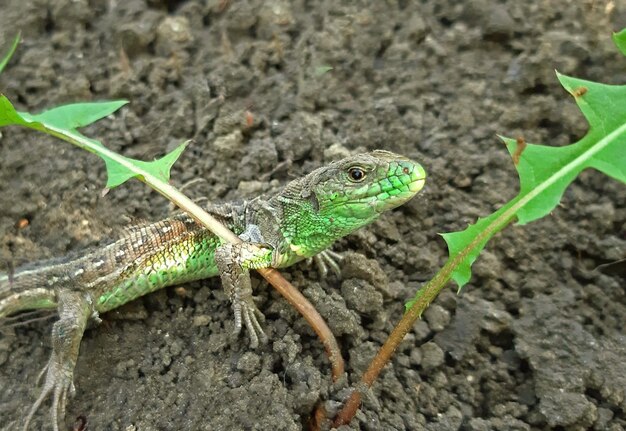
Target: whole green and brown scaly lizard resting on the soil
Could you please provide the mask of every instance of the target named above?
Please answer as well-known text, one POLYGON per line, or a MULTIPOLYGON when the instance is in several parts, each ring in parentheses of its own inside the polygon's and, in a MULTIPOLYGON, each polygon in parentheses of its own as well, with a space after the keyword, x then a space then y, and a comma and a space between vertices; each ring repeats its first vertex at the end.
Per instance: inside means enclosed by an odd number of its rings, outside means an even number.
POLYGON ((243 242, 222 242, 186 213, 130 227, 108 245, 0 273, 0 319, 25 310, 56 309, 44 383, 24 421, 29 427, 51 396, 54 431, 75 393, 74 367, 90 320, 158 289, 219 275, 235 320, 250 346, 266 342, 263 314, 252 297, 250 270, 284 268, 306 258, 335 267, 329 247, 424 186, 417 162, 375 150, 332 162, 269 197, 209 204, 206 210, 243 242))

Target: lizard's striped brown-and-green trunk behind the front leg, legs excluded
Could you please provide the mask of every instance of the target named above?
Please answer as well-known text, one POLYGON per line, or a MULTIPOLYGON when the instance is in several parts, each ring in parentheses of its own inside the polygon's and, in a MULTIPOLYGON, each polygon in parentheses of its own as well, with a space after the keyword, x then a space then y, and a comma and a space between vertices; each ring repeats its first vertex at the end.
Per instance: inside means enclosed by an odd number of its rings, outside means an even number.
MULTIPOLYGON (((240 208, 223 204, 208 211, 240 232, 240 208)), ((0 318, 56 307, 58 288, 84 291, 96 311, 105 312, 166 286, 217 275, 214 252, 220 243, 184 213, 133 226, 102 247, 0 273, 0 318)))

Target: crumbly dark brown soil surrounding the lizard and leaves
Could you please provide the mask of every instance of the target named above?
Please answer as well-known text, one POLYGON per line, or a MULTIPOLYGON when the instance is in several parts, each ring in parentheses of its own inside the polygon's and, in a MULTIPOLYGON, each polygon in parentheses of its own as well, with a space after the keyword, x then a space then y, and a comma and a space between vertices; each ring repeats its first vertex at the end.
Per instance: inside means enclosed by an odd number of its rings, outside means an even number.
MULTIPOLYGON (((194 143, 172 178, 194 197, 272 192, 344 154, 420 161, 424 192, 340 241, 342 279, 284 271, 330 324, 356 381, 403 302, 463 229, 517 192, 496 134, 565 145, 586 122, 554 70, 626 83, 610 40, 624 0, 518 2, 0 0, 0 42, 23 43, 0 77, 21 110, 131 103, 84 132, 131 157, 194 143), (321 73, 322 68, 332 70, 321 73)), ((170 211, 135 181, 105 196, 103 164, 34 132, 2 130, 0 265, 98 246, 170 211), (26 227, 18 227, 28 222, 26 227)), ((626 189, 584 172, 543 220, 513 226, 471 283, 425 313, 349 427, 362 430, 625 430, 626 189)), ((298 430, 337 406, 313 332, 255 277, 271 341, 233 340, 216 279, 148 295, 84 337, 67 428, 298 430)), ((50 320, 0 335, 0 428, 39 393, 50 320)), ((47 406, 31 429, 50 429, 47 406)))

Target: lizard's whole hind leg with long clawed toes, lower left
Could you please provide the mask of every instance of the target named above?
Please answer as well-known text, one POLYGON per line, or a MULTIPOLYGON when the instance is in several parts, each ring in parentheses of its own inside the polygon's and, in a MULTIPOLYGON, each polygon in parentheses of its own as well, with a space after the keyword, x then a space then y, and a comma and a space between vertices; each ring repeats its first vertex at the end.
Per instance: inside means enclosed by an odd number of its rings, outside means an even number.
POLYGON ((65 418, 65 404, 68 393, 74 394, 74 366, 80 348, 80 341, 93 313, 91 301, 84 293, 74 290, 59 290, 59 320, 52 327, 52 354, 48 365, 43 369, 46 379, 41 394, 33 404, 26 421, 24 431, 41 403, 52 394, 52 426, 59 431, 59 419, 65 418))

